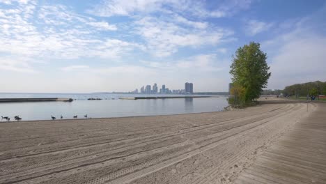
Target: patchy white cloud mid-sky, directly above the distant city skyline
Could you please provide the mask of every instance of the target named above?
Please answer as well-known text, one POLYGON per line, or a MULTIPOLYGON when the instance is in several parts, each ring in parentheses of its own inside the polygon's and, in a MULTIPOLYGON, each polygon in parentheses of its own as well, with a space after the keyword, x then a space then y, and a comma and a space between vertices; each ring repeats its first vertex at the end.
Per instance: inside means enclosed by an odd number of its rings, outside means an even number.
POLYGON ((187 29, 172 20, 143 17, 135 22, 134 29, 147 43, 148 50, 155 56, 170 56, 179 47, 217 45, 233 35, 228 29, 187 29))

